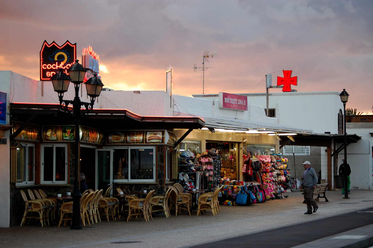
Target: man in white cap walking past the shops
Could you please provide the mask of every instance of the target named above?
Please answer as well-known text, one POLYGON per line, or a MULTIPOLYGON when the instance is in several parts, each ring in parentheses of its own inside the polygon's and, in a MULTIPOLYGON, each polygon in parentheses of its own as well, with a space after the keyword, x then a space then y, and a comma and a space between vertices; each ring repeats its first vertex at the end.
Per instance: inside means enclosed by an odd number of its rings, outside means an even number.
POLYGON ((303 188, 304 201, 307 204, 307 212, 304 214, 312 214, 312 207, 313 213, 316 213, 317 209, 319 208, 312 197, 313 191, 317 185, 317 175, 315 170, 311 168, 311 163, 309 161, 305 161, 303 166, 303 183, 301 184, 300 188, 303 188))

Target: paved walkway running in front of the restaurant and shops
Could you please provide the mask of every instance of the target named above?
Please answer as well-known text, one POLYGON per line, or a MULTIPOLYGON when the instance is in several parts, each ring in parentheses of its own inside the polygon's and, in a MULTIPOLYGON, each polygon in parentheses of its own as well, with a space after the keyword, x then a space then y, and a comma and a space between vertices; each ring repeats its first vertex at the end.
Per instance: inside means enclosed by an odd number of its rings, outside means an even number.
MULTIPOLYGON (((272 241, 286 237, 285 242, 266 242, 266 236, 260 242, 263 244, 262 247, 268 247, 271 243, 285 247, 290 239, 300 235, 297 234, 299 228, 293 230, 284 226, 303 226, 304 222, 317 223, 328 218, 336 220, 333 216, 373 207, 372 191, 352 190, 351 199, 342 199, 341 191, 327 191, 329 202, 320 200, 319 210, 315 214, 304 215, 306 206, 302 204, 301 192, 288 194, 287 199, 262 204, 222 206, 222 212, 217 216, 212 216, 211 211, 202 216, 196 216, 195 212, 188 216, 183 212, 181 216, 172 215, 170 218, 155 217, 150 222, 144 222, 143 219, 131 222, 124 219, 105 221, 82 230, 56 226, 41 227, 40 224, 3 228, 0 229, 0 244, 6 247, 186 247, 282 227, 282 232, 273 235, 272 241), (289 234, 291 236, 287 236, 289 234)), ((354 229, 357 219, 349 218, 348 214, 346 218, 344 222, 351 225, 350 229, 354 229)), ((370 220, 370 217, 368 219, 370 220)), ((342 225, 342 222, 338 222, 337 226, 342 225)), ((324 231, 312 229, 313 233, 324 231)), ((342 231, 344 230, 337 232, 342 231)), ((317 236, 314 240, 320 237, 317 236)), ((301 242, 308 241, 311 240, 301 242)), ((219 244, 219 247, 222 247, 222 244, 219 244)))

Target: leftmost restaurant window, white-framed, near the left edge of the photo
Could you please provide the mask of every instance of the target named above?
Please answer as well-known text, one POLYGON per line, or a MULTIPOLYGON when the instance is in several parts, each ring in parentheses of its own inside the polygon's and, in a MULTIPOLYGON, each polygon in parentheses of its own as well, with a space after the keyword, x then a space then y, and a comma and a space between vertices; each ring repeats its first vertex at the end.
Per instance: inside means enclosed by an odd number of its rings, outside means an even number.
POLYGON ((22 143, 22 147, 16 149, 17 173, 16 185, 35 184, 35 145, 22 143))

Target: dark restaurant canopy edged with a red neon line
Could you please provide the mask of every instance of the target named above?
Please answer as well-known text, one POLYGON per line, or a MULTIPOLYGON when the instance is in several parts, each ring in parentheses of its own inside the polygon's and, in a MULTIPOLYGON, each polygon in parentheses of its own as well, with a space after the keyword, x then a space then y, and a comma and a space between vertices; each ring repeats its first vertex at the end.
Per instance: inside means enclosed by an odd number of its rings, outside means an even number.
MULTIPOLYGON (((82 112, 84 111, 82 110, 82 112)), ((10 116, 12 120, 24 123, 11 135, 10 140, 13 140, 30 123, 38 125, 74 124, 72 116, 63 112, 59 104, 11 103, 10 116)), ((80 121, 82 126, 99 130, 178 128, 188 129, 188 133, 193 129, 203 128, 204 123, 200 117, 141 116, 126 109, 93 109, 90 113, 84 114, 80 121)), ((185 138, 183 137, 178 142, 185 138)))

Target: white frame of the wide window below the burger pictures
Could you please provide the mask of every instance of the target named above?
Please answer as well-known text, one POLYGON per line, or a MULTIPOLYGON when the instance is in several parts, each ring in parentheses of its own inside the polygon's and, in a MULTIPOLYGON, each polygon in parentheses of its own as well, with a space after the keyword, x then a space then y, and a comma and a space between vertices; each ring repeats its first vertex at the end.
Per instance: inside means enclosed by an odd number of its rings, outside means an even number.
MULTIPOLYGON (((128 149, 128 179, 113 179, 114 183, 121 182, 156 182, 156 147, 155 146, 118 146, 118 147, 104 147, 104 149, 113 149, 114 154, 116 149, 128 149), (153 179, 131 179, 131 149, 153 149, 153 179)), ((114 156, 112 157, 113 162, 114 156)), ((113 171, 114 164, 111 163, 111 170, 113 171)), ((114 173, 114 172, 112 172, 114 173)))

